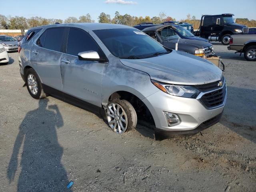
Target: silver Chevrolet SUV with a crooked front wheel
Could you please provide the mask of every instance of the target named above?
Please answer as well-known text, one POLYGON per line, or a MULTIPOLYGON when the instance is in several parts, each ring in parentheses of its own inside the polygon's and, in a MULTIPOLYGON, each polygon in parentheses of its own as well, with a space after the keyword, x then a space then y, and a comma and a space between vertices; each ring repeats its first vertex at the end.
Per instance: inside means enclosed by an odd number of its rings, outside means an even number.
POLYGON ((196 134, 220 120, 226 103, 218 67, 129 26, 40 26, 19 51, 33 98, 52 95, 102 114, 118 134, 137 118, 154 124, 156 138, 196 134))

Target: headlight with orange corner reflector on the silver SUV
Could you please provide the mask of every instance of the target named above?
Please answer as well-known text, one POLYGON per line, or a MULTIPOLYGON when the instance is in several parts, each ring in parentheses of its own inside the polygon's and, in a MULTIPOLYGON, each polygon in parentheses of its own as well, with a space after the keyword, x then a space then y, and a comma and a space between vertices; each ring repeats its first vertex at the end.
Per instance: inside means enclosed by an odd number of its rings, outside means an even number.
POLYGON ((186 98, 196 98, 200 93, 199 90, 194 88, 193 86, 182 86, 182 85, 168 85, 160 82, 156 82, 151 80, 151 82, 160 90, 170 95, 186 97, 186 98))

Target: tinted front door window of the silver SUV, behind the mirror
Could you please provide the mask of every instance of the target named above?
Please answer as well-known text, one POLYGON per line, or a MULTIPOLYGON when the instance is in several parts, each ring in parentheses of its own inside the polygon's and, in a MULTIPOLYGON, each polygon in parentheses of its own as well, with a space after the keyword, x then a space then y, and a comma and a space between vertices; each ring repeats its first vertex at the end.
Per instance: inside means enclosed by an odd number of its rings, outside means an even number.
POLYGON ((96 51, 101 56, 101 50, 93 38, 83 30, 70 28, 68 34, 67 53, 77 56, 84 51, 96 51))

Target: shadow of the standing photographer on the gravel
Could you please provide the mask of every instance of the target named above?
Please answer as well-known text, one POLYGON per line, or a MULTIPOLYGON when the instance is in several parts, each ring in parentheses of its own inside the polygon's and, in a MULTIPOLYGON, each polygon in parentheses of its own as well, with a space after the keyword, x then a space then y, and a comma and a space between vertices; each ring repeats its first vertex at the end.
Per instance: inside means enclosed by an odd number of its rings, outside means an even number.
POLYGON ((61 164, 63 148, 58 143, 56 128, 63 126, 58 106, 48 106, 48 100, 39 100, 39 107, 28 112, 20 124, 7 177, 14 180, 20 157, 18 192, 71 191, 67 172, 61 164), (48 108, 47 108, 48 107, 48 108), (20 148, 24 143, 23 150, 20 148))

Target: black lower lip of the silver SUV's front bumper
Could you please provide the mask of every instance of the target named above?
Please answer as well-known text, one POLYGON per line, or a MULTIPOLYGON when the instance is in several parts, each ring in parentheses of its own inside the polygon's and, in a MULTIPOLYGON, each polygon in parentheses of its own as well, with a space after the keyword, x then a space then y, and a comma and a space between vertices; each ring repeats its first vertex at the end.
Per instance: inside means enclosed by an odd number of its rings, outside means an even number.
POLYGON ((199 132, 209 128, 210 126, 213 126, 214 124, 218 123, 220 121, 220 118, 222 116, 221 114, 218 114, 217 116, 203 122, 200 124, 197 128, 192 129, 192 130, 186 130, 186 131, 166 131, 162 129, 155 128, 154 133, 155 133, 155 138, 156 140, 164 140, 167 138, 174 138, 178 136, 190 136, 190 135, 195 135, 198 134, 199 132))

